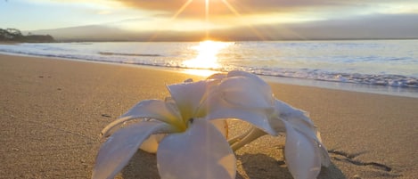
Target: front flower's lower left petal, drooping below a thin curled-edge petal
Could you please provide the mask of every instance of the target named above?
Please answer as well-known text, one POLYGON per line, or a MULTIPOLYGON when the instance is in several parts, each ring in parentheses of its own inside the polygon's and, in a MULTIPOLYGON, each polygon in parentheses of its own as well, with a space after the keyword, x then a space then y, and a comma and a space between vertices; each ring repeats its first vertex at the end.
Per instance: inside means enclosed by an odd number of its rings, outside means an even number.
POLYGON ((92 178, 113 178, 127 165, 139 145, 164 127, 167 127, 164 123, 144 121, 119 129, 102 144, 95 159, 92 178))

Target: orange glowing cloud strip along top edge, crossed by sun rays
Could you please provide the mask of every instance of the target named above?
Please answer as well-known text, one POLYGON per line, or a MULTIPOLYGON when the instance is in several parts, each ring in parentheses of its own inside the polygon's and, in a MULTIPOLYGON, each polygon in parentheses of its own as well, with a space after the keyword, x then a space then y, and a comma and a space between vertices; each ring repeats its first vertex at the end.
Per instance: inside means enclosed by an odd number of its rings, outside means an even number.
MULTIPOLYGON (((116 0, 129 7, 135 7, 148 11, 160 11, 174 14, 188 1, 188 5, 182 15, 187 18, 200 17, 205 12, 205 0, 116 0)), ((273 13, 273 12, 321 12, 321 11, 344 11, 346 9, 378 9, 391 7, 414 6, 418 3, 414 0, 209 0, 210 13, 213 15, 232 14, 225 4, 231 4, 242 15, 250 13, 273 13)))

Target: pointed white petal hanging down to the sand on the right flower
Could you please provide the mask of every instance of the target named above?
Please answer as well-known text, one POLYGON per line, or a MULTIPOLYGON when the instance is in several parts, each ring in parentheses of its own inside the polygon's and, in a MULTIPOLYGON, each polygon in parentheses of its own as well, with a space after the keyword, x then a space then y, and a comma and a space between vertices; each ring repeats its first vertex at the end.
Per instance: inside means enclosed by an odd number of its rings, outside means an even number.
POLYGON ((316 143, 293 129, 288 122, 283 122, 286 126, 284 156, 291 175, 295 179, 316 178, 321 171, 321 157, 316 143))

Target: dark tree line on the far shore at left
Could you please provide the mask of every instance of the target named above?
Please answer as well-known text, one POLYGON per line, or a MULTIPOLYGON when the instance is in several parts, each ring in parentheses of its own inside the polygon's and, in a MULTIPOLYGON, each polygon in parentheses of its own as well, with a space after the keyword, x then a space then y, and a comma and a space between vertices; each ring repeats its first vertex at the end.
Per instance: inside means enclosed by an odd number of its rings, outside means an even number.
POLYGON ((0 28, 0 41, 4 42, 55 42, 50 35, 32 35, 24 36, 17 28, 0 28))

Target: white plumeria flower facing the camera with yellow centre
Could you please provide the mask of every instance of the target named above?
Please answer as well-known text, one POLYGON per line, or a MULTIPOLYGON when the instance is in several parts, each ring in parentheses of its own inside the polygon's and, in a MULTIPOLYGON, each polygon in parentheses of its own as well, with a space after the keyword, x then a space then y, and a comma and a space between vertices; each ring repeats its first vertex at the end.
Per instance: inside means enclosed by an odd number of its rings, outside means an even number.
POLYGON ((139 102, 106 126, 102 134, 111 136, 97 155, 93 178, 113 178, 152 134, 167 134, 154 135, 154 141, 149 139, 142 146, 152 151, 158 144, 161 178, 235 178, 235 157, 224 136, 225 121, 213 125, 204 119, 204 94, 212 81, 168 85, 172 98, 139 102), (143 120, 119 128, 135 118, 143 120))

